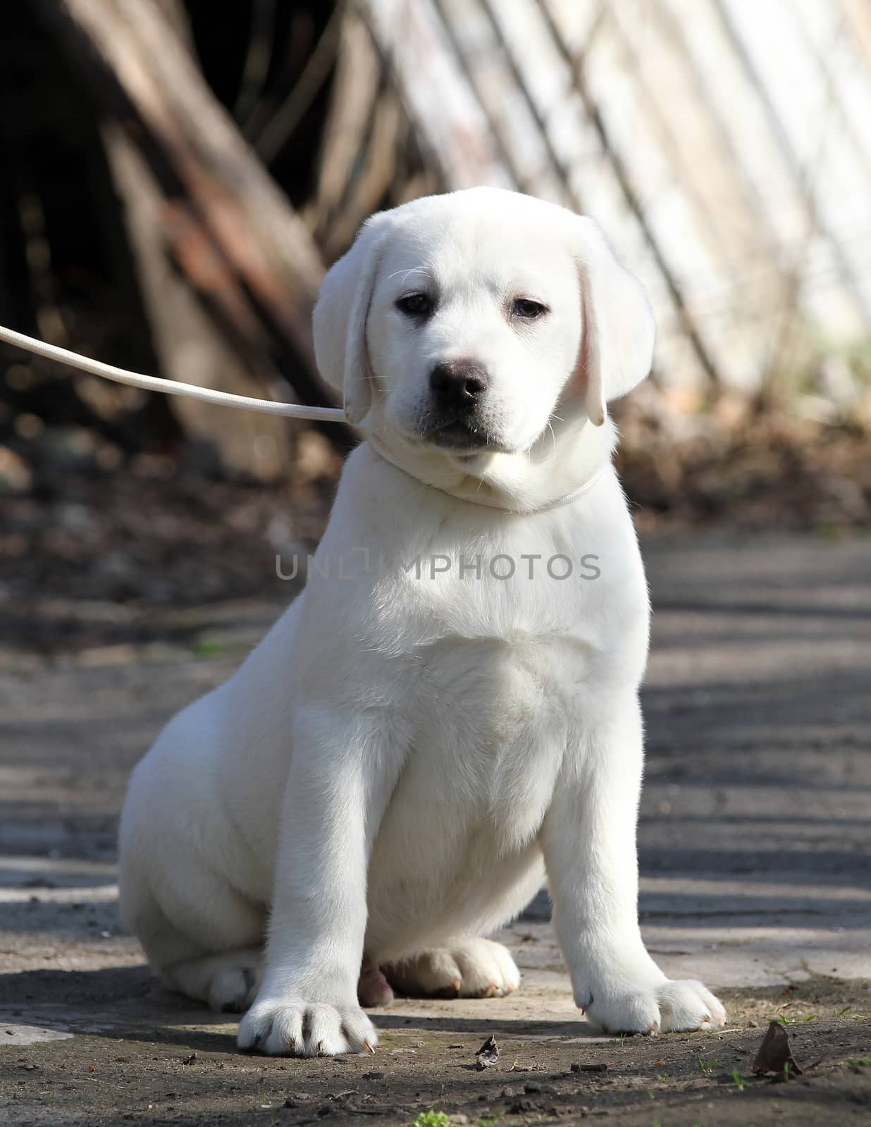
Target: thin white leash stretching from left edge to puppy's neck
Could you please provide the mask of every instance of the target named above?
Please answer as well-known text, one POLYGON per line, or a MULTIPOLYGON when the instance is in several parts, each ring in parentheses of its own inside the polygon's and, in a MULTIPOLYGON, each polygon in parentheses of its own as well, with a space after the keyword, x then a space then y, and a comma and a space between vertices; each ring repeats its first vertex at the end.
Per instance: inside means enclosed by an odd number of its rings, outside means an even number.
POLYGON ((202 399, 203 402, 217 403, 219 407, 241 407, 250 411, 261 411, 263 415, 282 415, 293 419, 323 419, 328 423, 347 421, 341 407, 303 407, 302 403, 281 403, 274 399, 253 399, 249 396, 234 396, 229 391, 197 388, 194 383, 165 380, 159 375, 127 372, 124 367, 115 367, 98 360, 90 360, 88 356, 80 356, 69 348, 59 348, 58 345, 47 345, 44 340, 7 329, 2 325, 0 325, 0 340, 37 356, 44 356, 46 360, 56 361, 59 364, 78 367, 91 375, 102 375, 106 380, 114 380, 115 383, 125 383, 130 388, 164 391, 168 396, 190 396, 191 399, 202 399))

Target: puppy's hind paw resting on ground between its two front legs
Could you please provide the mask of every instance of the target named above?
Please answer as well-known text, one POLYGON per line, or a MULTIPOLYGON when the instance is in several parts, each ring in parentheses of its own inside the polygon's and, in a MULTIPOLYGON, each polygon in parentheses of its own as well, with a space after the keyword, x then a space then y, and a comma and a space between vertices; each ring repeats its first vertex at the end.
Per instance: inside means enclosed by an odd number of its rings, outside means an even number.
POLYGON ((520 985, 507 947, 492 939, 463 939, 421 951, 384 968, 403 994, 434 997, 504 997, 520 985))

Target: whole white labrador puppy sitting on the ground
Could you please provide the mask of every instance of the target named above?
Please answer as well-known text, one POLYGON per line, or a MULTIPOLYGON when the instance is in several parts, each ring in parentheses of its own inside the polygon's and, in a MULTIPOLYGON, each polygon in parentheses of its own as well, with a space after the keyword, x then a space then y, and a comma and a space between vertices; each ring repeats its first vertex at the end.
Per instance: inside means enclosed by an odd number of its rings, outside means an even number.
POLYGON ((637 924, 648 593, 605 405, 650 369, 641 287, 589 219, 474 188, 369 220, 315 344, 367 441, 303 594, 133 774, 152 966, 249 1006, 241 1048, 360 1050, 388 983, 514 990, 481 937, 546 875, 588 1020, 722 1024, 637 924))

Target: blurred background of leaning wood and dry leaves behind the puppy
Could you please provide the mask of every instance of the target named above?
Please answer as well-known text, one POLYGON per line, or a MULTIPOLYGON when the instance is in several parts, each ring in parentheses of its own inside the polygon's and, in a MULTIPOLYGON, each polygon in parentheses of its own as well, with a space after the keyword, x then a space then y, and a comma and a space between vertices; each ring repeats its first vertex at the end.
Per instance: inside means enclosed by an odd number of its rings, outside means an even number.
MULTIPOLYGON (((641 531, 868 527, 865 0, 3 5, 0 140, 0 323, 308 403, 371 212, 494 184, 591 214, 659 322, 615 408, 641 531)), ((353 442, 3 347, 3 621, 52 647, 81 637, 52 598, 274 588, 353 442)))

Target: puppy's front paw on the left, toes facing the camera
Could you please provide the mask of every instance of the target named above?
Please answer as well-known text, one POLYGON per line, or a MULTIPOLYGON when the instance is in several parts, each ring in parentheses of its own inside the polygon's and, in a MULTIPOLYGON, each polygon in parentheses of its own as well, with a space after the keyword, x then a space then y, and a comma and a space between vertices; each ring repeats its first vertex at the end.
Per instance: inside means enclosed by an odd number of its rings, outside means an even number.
POLYGON ((359 1005, 263 999, 243 1018, 237 1040, 270 1056, 338 1056, 373 1051, 378 1033, 359 1005))

